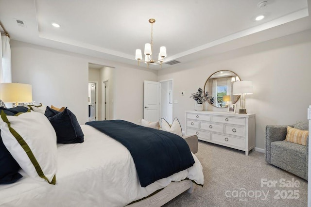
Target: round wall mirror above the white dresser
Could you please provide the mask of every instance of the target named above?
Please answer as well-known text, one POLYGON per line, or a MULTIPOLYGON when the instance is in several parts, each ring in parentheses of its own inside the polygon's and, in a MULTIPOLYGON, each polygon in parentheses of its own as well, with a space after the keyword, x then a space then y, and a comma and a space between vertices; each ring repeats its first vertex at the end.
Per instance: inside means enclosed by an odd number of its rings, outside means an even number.
POLYGON ((208 77, 204 85, 204 93, 213 97, 208 101, 218 108, 226 108, 230 103, 236 103, 240 95, 232 95, 234 81, 240 81, 240 77, 230 70, 220 70, 208 77))

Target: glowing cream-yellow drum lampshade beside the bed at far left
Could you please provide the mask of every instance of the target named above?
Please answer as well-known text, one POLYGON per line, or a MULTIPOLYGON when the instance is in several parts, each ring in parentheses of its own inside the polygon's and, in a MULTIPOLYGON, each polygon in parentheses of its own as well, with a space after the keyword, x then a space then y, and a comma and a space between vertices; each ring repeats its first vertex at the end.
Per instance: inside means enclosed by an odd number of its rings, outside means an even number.
POLYGON ((32 86, 23 83, 1 83, 1 100, 5 103, 33 102, 32 86))

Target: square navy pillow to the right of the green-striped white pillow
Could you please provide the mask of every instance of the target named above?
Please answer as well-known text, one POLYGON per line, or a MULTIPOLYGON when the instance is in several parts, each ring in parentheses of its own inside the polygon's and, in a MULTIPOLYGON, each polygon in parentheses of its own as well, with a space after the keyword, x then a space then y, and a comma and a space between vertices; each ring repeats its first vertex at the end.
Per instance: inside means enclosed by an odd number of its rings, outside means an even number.
POLYGON ((83 143, 84 134, 77 117, 66 109, 62 112, 47 107, 44 115, 48 117, 56 132, 57 143, 83 143))

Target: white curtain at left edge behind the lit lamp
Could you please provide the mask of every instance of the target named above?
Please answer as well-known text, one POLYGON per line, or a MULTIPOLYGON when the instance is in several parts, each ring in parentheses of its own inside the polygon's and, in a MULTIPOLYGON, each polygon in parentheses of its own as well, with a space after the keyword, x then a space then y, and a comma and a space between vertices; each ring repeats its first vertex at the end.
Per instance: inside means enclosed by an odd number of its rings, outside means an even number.
MULTIPOLYGON (((0 83, 12 82, 10 38, 0 35, 0 83)), ((11 108, 12 104, 6 103, 11 108)))

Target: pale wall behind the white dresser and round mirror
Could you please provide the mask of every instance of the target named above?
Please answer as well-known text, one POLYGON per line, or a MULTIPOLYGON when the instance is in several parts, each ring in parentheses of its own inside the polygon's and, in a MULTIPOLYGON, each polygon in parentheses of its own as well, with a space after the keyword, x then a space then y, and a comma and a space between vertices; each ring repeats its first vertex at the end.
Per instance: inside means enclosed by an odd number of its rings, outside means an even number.
MULTIPOLYGON (((252 80, 254 94, 246 96, 246 109, 256 113, 256 147, 264 148, 266 125, 290 125, 307 121, 311 104, 311 30, 257 45, 207 57, 198 62, 176 64, 161 70, 159 80, 174 80, 173 117, 185 130, 185 111, 194 109, 190 94, 203 88, 219 70, 231 70, 242 80, 252 80), (185 96, 181 92, 185 91, 185 96)), ((208 111, 227 111, 207 104, 208 111)), ((237 102, 237 111, 240 101, 237 102)))

